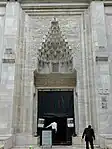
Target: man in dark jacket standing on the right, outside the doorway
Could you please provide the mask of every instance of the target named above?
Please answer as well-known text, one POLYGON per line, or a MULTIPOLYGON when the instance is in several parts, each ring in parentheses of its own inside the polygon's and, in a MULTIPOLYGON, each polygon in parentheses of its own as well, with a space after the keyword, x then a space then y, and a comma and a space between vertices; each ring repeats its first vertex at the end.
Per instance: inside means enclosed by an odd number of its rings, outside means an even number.
POLYGON ((86 149, 89 149, 89 143, 91 145, 91 149, 94 149, 93 139, 95 140, 95 134, 94 134, 94 130, 91 128, 91 125, 89 125, 88 128, 84 129, 82 139, 84 137, 86 141, 86 149))

